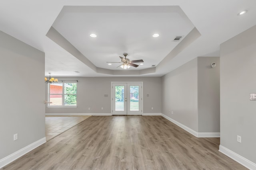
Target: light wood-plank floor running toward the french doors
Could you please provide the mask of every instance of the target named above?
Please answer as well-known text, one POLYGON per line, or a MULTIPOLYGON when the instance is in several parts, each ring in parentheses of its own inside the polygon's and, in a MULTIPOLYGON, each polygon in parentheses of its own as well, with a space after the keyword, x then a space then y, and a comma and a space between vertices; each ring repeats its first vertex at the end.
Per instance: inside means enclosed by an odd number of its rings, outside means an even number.
POLYGON ((244 170, 161 116, 91 116, 4 170, 244 170))

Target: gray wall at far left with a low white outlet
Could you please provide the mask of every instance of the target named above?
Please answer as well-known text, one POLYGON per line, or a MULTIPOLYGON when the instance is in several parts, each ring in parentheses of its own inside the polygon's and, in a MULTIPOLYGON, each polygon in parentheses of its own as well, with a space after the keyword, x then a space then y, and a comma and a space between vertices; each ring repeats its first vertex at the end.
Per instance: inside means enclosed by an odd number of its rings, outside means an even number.
POLYGON ((0 31, 0 59, 1 159, 45 137, 45 92, 43 52, 0 31))

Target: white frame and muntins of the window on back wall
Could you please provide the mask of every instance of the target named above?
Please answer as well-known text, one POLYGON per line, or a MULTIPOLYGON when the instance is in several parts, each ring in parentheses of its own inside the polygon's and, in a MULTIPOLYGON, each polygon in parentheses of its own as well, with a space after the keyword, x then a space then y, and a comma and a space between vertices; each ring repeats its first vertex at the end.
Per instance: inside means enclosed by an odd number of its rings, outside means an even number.
MULTIPOLYGON (((62 105, 58 105, 58 106, 53 106, 53 105, 50 105, 50 103, 48 103, 47 107, 48 108, 76 108, 77 107, 77 104, 76 105, 72 105, 72 106, 65 106, 65 95, 76 95, 76 101, 77 101, 77 91, 76 91, 76 94, 65 94, 65 84, 67 83, 76 83, 77 85, 77 82, 58 82, 58 84, 62 84, 62 94, 50 94, 50 83, 48 84, 48 101, 50 101, 50 95, 62 95, 62 105)), ((56 83, 57 84, 57 83, 56 83)), ((76 86, 77 87, 77 86, 76 86)), ((77 90, 77 89, 76 89, 77 90)))

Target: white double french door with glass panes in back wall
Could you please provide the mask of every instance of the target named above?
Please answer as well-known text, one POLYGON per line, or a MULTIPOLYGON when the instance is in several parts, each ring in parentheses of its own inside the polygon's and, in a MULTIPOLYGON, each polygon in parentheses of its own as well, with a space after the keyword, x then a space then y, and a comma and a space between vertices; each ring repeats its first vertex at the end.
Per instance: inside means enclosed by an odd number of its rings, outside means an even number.
POLYGON ((142 82, 112 82, 112 114, 142 115, 142 82))

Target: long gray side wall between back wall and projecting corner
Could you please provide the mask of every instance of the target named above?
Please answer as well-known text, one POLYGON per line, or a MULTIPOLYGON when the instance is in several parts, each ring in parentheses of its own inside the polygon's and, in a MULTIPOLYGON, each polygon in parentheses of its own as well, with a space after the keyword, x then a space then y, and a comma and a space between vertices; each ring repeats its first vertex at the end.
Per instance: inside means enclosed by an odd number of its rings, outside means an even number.
POLYGON ((196 132, 198 132, 197 60, 198 58, 195 58, 162 76, 162 113, 196 132))

